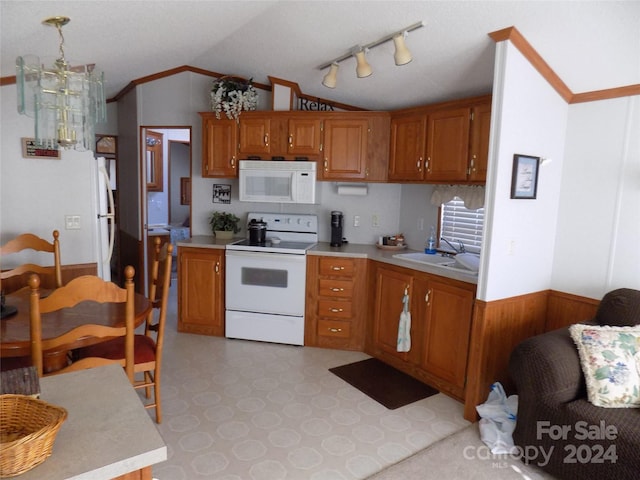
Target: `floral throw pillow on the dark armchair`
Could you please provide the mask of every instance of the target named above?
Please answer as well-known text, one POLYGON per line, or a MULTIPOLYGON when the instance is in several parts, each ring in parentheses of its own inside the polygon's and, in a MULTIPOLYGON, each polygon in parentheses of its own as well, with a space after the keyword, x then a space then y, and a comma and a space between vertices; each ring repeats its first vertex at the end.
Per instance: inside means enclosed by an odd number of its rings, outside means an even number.
POLYGON ((589 401, 598 407, 640 408, 640 326, 569 327, 578 347, 589 401))

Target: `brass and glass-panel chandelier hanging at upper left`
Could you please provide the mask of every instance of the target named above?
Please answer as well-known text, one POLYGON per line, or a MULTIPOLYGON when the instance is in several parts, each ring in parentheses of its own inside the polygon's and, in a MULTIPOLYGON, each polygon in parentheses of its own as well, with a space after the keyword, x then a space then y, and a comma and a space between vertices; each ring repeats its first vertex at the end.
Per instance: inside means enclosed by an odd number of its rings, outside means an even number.
POLYGON ((35 139, 48 148, 92 150, 94 126, 106 120, 104 74, 95 65, 71 66, 64 57, 62 27, 69 17, 42 23, 58 29, 60 58, 46 67, 36 55, 16 59, 18 112, 35 119, 35 139))

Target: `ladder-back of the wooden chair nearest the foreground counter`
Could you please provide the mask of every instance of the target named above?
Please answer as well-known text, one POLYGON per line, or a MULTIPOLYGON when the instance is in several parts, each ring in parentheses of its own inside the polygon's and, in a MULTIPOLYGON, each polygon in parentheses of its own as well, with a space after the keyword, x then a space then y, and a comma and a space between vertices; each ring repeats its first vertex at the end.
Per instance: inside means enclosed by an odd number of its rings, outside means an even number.
MULTIPOLYGON (((74 278, 64 287, 54 290, 48 297, 40 298, 40 278, 38 274, 29 277, 31 289, 29 306, 31 321, 31 358, 40 376, 43 372, 43 352, 47 350, 63 350, 65 346, 72 345, 79 339, 87 337, 110 338, 118 337, 123 341, 123 355, 118 359, 103 357, 89 357, 75 359, 71 364, 56 370, 51 374, 66 373, 99 367, 110 363, 119 363, 125 369, 129 381, 134 383, 133 373, 133 343, 135 336, 135 287, 133 276, 135 270, 128 266, 125 268, 125 288, 118 287, 115 283, 107 282, 93 275, 84 275, 74 278), (42 338, 42 314, 54 312, 63 308, 69 308, 80 302, 93 301, 99 303, 124 303, 125 325, 109 327, 96 324, 84 324, 54 338, 42 338)), ((107 341, 107 340, 105 340, 107 341)))

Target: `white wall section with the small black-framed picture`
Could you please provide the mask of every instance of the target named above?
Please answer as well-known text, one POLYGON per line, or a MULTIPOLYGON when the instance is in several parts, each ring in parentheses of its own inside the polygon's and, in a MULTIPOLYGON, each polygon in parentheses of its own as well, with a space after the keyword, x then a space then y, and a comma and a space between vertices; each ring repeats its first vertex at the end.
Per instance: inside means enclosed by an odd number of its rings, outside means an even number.
POLYGON ((478 298, 550 287, 568 107, 508 41, 496 45, 485 231, 478 298), (513 155, 550 158, 535 200, 510 198, 513 155))

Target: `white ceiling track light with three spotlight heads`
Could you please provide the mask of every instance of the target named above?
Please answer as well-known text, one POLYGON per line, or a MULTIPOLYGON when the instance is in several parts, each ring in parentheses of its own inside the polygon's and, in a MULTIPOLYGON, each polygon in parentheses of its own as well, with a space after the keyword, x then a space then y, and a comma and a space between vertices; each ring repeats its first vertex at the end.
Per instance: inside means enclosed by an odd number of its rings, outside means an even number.
POLYGON ((373 73, 373 69, 371 68, 371 65, 369 65, 369 62, 367 62, 366 53, 372 48, 377 47, 378 45, 382 45, 383 43, 386 43, 390 40, 393 40, 395 46, 395 53, 393 55, 395 64, 406 65, 413 59, 413 57, 411 56, 411 52, 405 44, 405 38, 407 37, 408 32, 417 30, 421 27, 424 27, 424 24, 421 21, 418 23, 414 23, 413 25, 394 32, 391 35, 379 38, 375 42, 371 42, 363 46, 353 47, 349 51, 349 53, 346 53, 341 57, 334 58, 328 63, 320 65, 318 67, 318 70, 324 70, 325 68, 330 67, 329 72, 322 79, 322 84, 328 88, 335 88, 338 81, 338 64, 351 57, 355 57, 356 59, 356 75, 358 76, 358 78, 368 77, 373 73))

